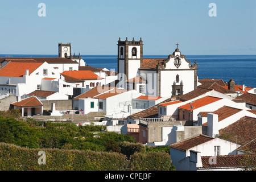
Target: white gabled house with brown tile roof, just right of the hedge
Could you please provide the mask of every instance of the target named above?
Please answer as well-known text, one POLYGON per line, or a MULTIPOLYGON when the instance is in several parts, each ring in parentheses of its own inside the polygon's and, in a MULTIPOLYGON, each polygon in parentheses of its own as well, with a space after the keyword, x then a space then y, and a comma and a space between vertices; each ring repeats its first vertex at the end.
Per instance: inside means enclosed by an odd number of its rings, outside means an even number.
POLYGON ((236 155, 241 145, 220 138, 197 135, 170 145, 172 164, 177 171, 195 171, 203 167, 202 156, 236 155), (193 162, 193 163, 191 163, 193 162))

